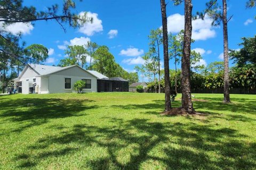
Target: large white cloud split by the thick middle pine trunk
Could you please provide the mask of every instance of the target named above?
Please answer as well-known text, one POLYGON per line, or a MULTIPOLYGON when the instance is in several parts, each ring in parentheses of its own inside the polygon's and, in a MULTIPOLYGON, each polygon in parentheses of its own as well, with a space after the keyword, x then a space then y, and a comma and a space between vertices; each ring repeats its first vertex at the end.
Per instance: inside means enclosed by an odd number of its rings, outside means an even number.
MULTIPOLYGON (((168 16, 167 18, 167 28, 168 32, 178 33, 180 30, 184 29, 185 18, 184 15, 179 13, 168 16)), ((204 20, 197 19, 192 21, 193 30, 192 38, 194 40, 206 40, 208 38, 213 38, 216 35, 215 30, 212 28, 212 19, 205 17, 204 20)))

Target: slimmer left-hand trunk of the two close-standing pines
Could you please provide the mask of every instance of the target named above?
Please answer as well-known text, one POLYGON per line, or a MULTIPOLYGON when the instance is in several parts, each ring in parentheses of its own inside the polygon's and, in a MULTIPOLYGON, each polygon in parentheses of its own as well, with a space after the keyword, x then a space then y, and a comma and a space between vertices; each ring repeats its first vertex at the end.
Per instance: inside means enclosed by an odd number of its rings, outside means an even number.
POLYGON ((163 46, 164 46, 164 86, 165 86, 165 112, 171 111, 170 98, 170 70, 169 70, 169 54, 168 54, 168 33, 167 33, 167 17, 165 0, 160 0, 163 24, 163 46))

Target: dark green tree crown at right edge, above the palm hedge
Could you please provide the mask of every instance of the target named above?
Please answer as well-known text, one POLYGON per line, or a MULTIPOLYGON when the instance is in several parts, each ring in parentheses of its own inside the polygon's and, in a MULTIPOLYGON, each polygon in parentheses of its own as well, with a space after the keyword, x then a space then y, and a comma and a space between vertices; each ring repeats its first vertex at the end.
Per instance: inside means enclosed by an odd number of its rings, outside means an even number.
POLYGON ((245 64, 256 65, 256 35, 252 38, 241 38, 243 43, 238 44, 243 46, 239 50, 230 50, 230 58, 237 63, 239 67, 245 64))

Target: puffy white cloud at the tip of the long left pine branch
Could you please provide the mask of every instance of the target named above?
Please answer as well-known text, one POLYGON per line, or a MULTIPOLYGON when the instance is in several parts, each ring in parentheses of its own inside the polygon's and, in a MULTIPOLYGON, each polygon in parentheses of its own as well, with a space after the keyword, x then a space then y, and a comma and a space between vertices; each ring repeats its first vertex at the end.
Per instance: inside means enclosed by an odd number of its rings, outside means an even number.
MULTIPOLYGON (((84 15, 84 13, 85 12, 81 12, 79 15, 84 15)), ((87 12, 86 17, 92 18, 93 22, 85 23, 83 27, 79 28, 79 32, 82 32, 87 36, 93 36, 94 33, 103 31, 102 21, 98 18, 97 13, 87 12)))

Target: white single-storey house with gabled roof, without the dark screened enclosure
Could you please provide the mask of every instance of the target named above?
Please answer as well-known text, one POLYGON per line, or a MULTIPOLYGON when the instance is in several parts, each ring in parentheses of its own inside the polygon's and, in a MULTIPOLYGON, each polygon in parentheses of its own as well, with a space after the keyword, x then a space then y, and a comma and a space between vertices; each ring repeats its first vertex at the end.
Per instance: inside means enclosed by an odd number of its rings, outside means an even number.
POLYGON ((22 94, 38 92, 39 94, 75 92, 74 83, 86 82, 83 92, 97 92, 97 80, 108 79, 97 71, 87 71, 78 65, 66 67, 28 64, 19 77, 13 79, 14 89, 22 94))

